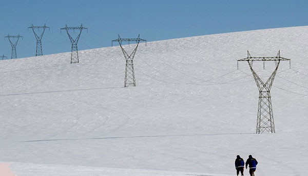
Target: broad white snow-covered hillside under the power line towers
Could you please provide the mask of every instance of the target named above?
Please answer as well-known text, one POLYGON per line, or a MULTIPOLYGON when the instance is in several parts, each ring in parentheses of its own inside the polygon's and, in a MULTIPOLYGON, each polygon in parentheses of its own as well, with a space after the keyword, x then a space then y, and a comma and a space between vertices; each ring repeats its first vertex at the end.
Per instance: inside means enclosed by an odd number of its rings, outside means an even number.
MULTIPOLYGON (((0 61, 0 161, 21 175, 307 175, 308 26, 141 43, 136 87, 119 46, 0 61), (255 134, 259 91, 247 62, 281 61, 276 134, 255 134), (248 171, 245 169, 245 175, 248 171)), ((134 44, 125 45, 130 52, 134 44)), ((263 80, 274 62, 254 62, 263 80)))

